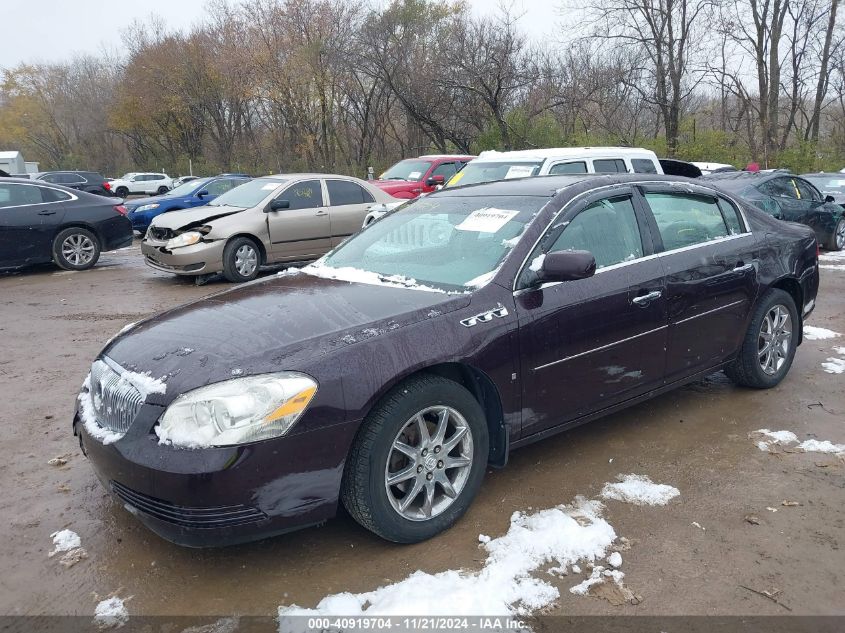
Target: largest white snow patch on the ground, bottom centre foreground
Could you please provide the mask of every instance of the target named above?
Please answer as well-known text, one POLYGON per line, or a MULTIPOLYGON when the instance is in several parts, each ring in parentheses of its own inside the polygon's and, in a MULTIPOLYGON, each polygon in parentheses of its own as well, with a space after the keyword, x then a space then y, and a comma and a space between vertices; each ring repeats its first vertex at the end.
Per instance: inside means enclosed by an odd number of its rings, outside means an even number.
POLYGON ((533 514, 515 512, 504 536, 487 542, 480 539, 480 547, 488 552, 480 571, 416 571, 374 591, 327 596, 314 609, 282 606, 279 630, 289 631, 298 623, 286 616, 516 616, 536 611, 550 605, 560 593, 532 577, 532 572, 550 563, 565 568, 580 560, 593 562, 606 554, 616 532, 602 518, 602 509, 600 502, 578 497, 571 506, 533 514))

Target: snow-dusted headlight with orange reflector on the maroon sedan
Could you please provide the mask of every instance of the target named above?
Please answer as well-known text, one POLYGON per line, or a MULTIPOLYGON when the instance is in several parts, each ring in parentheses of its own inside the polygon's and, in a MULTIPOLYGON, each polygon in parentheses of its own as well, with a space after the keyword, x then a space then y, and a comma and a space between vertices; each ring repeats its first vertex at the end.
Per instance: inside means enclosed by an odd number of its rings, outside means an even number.
POLYGON ((287 433, 317 393, 313 378, 285 371, 236 378, 182 394, 159 418, 161 444, 232 446, 287 433))

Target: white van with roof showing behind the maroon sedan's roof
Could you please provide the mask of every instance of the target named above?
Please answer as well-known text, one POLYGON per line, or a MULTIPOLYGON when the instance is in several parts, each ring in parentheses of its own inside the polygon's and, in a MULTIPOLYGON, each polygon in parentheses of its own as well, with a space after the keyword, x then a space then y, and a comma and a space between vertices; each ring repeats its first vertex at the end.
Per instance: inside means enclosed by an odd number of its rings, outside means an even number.
POLYGON ((662 174, 657 155, 641 147, 552 147, 481 152, 446 187, 559 174, 662 174))

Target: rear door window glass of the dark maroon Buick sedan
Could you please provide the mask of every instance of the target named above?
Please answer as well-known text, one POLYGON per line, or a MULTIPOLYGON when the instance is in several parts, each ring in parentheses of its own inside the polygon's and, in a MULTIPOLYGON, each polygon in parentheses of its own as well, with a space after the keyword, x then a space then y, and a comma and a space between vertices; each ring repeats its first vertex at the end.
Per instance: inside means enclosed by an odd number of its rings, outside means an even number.
POLYGON ((664 250, 703 244, 728 235, 716 198, 697 194, 646 193, 664 250))

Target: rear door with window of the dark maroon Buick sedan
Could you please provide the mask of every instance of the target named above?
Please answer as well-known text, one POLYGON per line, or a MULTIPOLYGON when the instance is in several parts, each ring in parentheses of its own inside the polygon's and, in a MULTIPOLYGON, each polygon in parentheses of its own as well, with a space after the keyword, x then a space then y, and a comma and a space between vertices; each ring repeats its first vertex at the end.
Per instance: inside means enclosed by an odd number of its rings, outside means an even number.
POLYGON ((666 272, 666 382, 726 360, 739 347, 759 289, 756 238, 732 203, 707 190, 644 185, 666 272))

